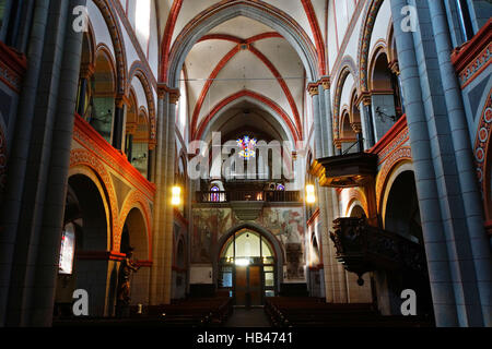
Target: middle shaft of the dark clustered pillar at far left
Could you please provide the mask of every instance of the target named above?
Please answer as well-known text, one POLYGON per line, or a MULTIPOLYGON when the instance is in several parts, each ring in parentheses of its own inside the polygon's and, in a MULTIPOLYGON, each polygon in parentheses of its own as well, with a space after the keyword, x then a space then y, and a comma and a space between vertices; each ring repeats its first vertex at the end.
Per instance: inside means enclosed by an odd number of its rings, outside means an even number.
MULTIPOLYGON (((32 137, 27 154, 22 204, 16 227, 7 324, 27 326, 35 269, 42 243, 45 195, 54 137, 54 123, 60 93, 61 64, 69 2, 51 2, 47 37, 44 44, 40 81, 32 120, 32 137)), ((75 93, 77 94, 77 93, 75 93)), ((72 112, 74 109, 72 110, 72 112)), ((21 125, 22 127, 22 125, 21 125)), ((65 201, 65 200, 63 200, 65 201)), ((63 202, 62 201, 62 202, 63 202)))

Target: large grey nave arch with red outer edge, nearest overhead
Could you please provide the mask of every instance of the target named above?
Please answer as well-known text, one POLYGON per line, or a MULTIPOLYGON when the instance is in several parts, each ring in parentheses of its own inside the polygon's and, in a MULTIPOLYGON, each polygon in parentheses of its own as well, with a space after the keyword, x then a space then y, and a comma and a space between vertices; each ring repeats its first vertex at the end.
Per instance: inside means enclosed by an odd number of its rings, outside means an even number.
MULTIPOLYGON (((283 11, 260 1, 221 1, 195 16, 177 36, 171 52, 162 52, 161 77, 171 88, 179 88, 179 72, 191 47, 210 29, 236 16, 246 16, 279 32, 296 50, 309 81, 318 81, 316 48, 304 29, 283 11)), ((164 49, 164 48, 162 48, 164 49)))

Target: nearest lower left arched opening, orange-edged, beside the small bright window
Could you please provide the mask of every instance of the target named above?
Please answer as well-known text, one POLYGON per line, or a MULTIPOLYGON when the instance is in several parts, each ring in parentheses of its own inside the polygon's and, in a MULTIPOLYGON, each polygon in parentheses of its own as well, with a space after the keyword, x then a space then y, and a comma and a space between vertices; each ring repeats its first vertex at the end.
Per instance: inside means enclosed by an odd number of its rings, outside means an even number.
POLYGON ((112 209, 107 190, 99 173, 86 165, 70 167, 63 231, 74 234, 72 274, 58 277, 56 302, 70 302, 75 289, 91 294, 89 312, 92 316, 112 313, 112 292, 108 279, 112 256, 112 209), (59 285, 60 285, 59 284, 59 285))

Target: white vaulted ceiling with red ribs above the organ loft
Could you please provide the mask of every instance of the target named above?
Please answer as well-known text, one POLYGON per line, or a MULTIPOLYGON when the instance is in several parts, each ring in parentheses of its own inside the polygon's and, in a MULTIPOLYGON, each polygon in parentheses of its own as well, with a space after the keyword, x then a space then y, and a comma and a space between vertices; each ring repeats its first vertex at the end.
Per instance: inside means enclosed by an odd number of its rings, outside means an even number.
MULTIPOLYGON (((157 1, 162 52, 171 52, 176 38, 189 23, 207 16, 219 3, 227 2, 237 1, 157 1)), ((320 69, 324 69, 326 0, 255 0, 255 3, 290 16, 316 48, 320 69)), ((239 15, 213 27, 189 51, 183 77, 186 80, 191 137, 202 137, 219 116, 230 118, 229 121, 237 125, 276 133, 276 127, 272 127, 276 123, 268 120, 271 115, 282 119, 284 129, 276 135, 270 133, 272 136, 303 137, 305 67, 291 44, 270 26, 239 15), (237 99, 249 100, 249 104, 243 103, 245 109, 254 107, 253 100, 269 112, 243 113, 238 110, 241 105, 234 104, 237 99), (227 109, 232 111, 224 112, 227 109)))

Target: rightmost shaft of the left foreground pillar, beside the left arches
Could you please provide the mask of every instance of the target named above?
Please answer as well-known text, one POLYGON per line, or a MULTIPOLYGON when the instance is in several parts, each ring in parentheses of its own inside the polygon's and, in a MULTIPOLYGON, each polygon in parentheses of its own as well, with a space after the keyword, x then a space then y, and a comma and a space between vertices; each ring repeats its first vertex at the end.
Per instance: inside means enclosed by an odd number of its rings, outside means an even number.
MULTIPOLYGON (((71 0, 69 13, 86 0, 71 0)), ((70 27, 72 16, 67 16, 70 27)), ((68 188, 70 151, 79 86, 79 72, 82 55, 82 33, 67 31, 63 58, 61 61, 58 109, 54 124, 54 137, 48 173, 48 183, 43 213, 42 239, 36 261, 36 277, 30 315, 31 326, 50 326, 58 275, 61 231, 65 220, 65 203, 68 188)))

